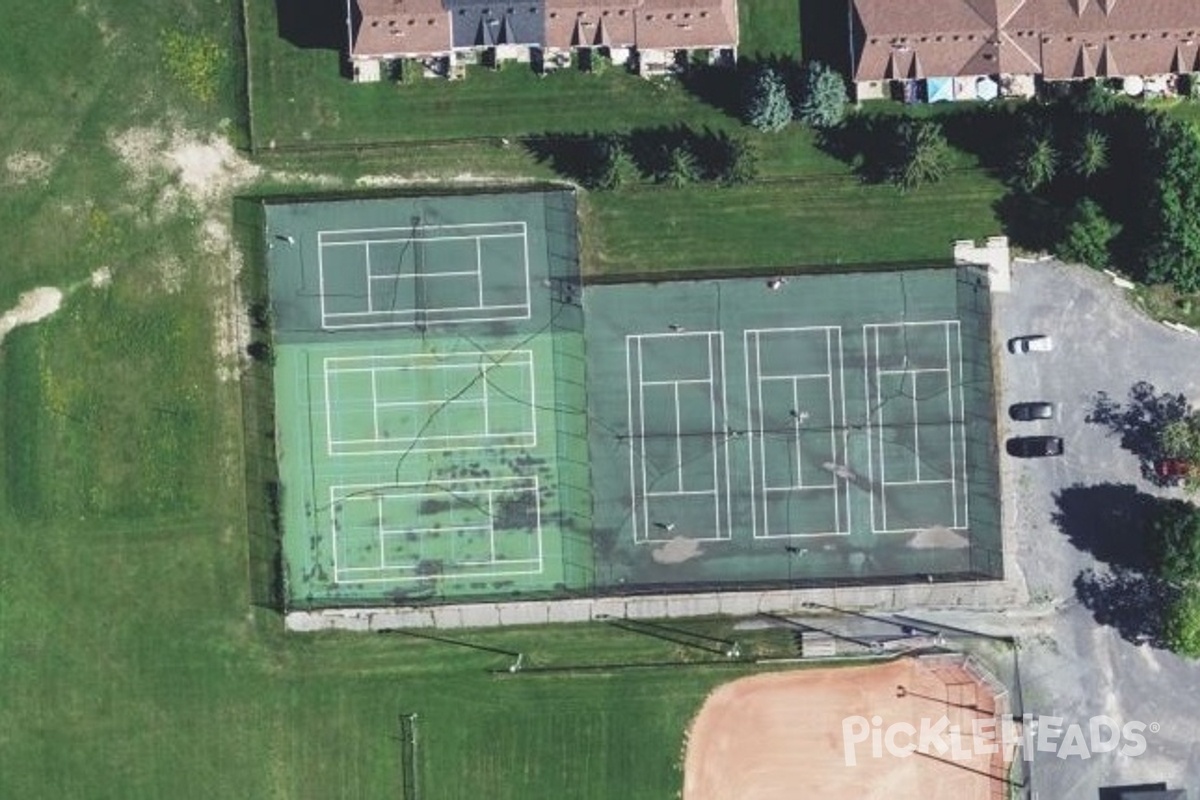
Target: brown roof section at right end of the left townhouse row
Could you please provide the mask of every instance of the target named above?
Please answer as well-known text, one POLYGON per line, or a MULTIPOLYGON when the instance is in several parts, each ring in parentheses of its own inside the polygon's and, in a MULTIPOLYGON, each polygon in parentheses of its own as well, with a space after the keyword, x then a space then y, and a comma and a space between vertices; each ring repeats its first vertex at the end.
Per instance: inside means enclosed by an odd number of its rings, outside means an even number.
POLYGON ((736 47, 736 0, 643 0, 637 13, 637 47, 671 50, 736 47))

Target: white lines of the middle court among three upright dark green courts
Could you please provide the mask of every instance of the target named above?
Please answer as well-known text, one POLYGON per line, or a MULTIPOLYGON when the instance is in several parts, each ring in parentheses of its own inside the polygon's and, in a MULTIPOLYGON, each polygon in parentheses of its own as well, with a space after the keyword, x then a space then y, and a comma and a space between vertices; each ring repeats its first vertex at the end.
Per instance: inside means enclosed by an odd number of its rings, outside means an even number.
MULTIPOLYGON (((793 539, 798 536, 845 536, 850 534, 851 522, 850 522, 850 483, 846 482, 841 491, 845 492, 846 501, 846 524, 845 528, 841 525, 841 511, 839 499, 839 485, 838 479, 834 476, 832 483, 822 486, 791 486, 791 487, 775 487, 767 486, 767 447, 762 444, 766 433, 758 431, 763 423, 763 398, 762 398, 762 386, 767 380, 791 380, 793 403, 797 399, 796 392, 798 390, 799 380, 803 379, 824 379, 827 381, 827 390, 829 395, 829 440, 833 450, 834 459, 838 458, 838 425, 836 425, 836 404, 834 399, 834 361, 833 361, 833 332, 836 331, 838 339, 838 385, 841 389, 841 453, 845 456, 848 453, 848 431, 846 428, 846 378, 845 378, 845 343, 842 342, 841 326, 840 325, 806 325, 797 327, 751 327, 746 329, 742 333, 743 350, 745 353, 745 372, 746 372, 746 431, 750 439, 749 455, 750 455, 750 497, 751 497, 751 513, 750 513, 750 527, 751 535, 754 539, 793 539), (763 333, 796 333, 796 332, 808 332, 808 331, 823 331, 826 338, 826 372, 824 373, 802 373, 802 374, 768 374, 763 375, 762 372, 762 338, 763 333), (754 357, 751 359, 750 351, 750 338, 754 337, 754 357), (751 381, 750 378, 750 366, 754 363, 755 377, 751 381), (754 413, 754 395, 751 389, 751 383, 757 389, 758 397, 758 425, 755 425, 754 413), (755 458, 755 439, 758 439, 758 458, 755 458), (761 498, 760 487, 757 480, 762 479, 761 498), (834 489, 833 492, 833 504, 834 504, 834 522, 838 525, 838 530, 833 531, 806 531, 802 534, 772 534, 769 522, 767 518, 767 499, 770 492, 797 492, 804 489, 834 489), (763 531, 758 533, 758 505, 762 504, 762 522, 763 531)), ((793 409, 796 410, 796 409, 793 409)), ((796 428, 796 449, 797 449, 797 476, 803 483, 803 479, 799 476, 799 427, 796 428)))

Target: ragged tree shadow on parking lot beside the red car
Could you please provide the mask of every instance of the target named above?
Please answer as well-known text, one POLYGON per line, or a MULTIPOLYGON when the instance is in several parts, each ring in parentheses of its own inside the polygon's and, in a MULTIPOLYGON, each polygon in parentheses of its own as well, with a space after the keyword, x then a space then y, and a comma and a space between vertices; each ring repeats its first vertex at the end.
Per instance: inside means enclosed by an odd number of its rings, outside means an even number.
POLYGON ((1154 486, 1170 486, 1172 479, 1159 477, 1154 463, 1163 457, 1159 435, 1170 422, 1188 415, 1189 405, 1183 395, 1159 392, 1153 384, 1140 380, 1129 389, 1126 403, 1099 391, 1085 420, 1109 429, 1120 438, 1121 446, 1141 462, 1141 475, 1154 486))

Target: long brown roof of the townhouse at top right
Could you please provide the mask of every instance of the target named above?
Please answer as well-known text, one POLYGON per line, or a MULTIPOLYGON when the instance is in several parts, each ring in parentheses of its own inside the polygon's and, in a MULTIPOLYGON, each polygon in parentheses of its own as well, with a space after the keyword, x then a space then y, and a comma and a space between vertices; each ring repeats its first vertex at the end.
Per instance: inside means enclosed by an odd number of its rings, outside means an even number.
POLYGON ((854 0, 854 10, 856 80, 889 78, 898 60, 913 59, 925 73, 913 77, 1051 80, 1190 72, 1200 64, 1195 0, 854 0))

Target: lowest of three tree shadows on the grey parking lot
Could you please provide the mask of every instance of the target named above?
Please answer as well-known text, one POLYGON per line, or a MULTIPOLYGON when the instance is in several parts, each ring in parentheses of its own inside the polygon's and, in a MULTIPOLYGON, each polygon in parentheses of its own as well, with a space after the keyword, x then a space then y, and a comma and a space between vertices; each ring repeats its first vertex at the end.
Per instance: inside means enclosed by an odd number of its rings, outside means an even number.
POLYGON ((1132 644, 1163 648, 1165 610, 1178 591, 1135 570, 1085 570, 1075 576, 1075 596, 1099 625, 1116 628, 1132 644))

